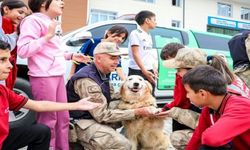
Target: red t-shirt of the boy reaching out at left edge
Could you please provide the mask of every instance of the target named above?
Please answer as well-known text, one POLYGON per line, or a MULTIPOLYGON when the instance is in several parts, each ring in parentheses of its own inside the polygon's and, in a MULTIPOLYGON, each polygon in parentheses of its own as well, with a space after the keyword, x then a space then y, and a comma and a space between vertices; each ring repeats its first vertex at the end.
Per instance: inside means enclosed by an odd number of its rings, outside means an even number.
POLYGON ((9 111, 19 110, 26 104, 27 100, 24 96, 0 85, 0 149, 9 133, 9 111))

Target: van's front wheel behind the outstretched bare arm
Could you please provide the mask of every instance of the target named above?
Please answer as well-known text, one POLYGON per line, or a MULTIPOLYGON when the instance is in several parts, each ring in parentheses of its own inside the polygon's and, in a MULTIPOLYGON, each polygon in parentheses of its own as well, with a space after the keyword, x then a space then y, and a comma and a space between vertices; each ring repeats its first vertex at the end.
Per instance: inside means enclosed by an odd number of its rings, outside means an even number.
MULTIPOLYGON (((23 78, 17 78, 16 84, 13 90, 17 94, 20 94, 29 99, 32 99, 32 93, 31 93, 29 81, 23 78)), ((34 122, 35 122, 35 112, 31 110, 21 108, 19 111, 9 112, 10 128, 31 125, 34 122)))

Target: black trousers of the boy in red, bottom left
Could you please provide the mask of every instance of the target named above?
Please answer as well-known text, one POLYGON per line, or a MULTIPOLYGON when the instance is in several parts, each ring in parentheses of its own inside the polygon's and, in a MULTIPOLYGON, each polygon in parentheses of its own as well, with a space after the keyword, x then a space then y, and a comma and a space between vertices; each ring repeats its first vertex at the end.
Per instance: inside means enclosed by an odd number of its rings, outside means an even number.
POLYGON ((49 127, 43 124, 13 128, 10 129, 2 150, 17 150, 25 146, 28 146, 28 150, 48 150, 50 136, 49 127))

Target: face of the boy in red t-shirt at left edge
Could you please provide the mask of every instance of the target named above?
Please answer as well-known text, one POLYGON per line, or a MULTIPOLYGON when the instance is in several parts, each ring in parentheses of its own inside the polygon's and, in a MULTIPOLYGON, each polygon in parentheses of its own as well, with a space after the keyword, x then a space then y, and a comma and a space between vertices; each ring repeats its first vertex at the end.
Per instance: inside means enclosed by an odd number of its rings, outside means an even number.
POLYGON ((7 79, 10 70, 12 69, 12 64, 9 61, 10 51, 0 50, 0 80, 7 79))

